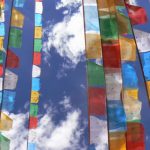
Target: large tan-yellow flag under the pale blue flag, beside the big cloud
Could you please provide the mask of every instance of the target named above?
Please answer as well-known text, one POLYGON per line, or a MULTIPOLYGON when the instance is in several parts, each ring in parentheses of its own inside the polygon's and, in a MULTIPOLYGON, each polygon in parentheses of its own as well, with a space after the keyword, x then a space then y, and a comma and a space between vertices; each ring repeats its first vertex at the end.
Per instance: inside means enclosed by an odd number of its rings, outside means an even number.
POLYGON ((86 34, 86 56, 88 59, 102 57, 101 39, 99 34, 86 34))

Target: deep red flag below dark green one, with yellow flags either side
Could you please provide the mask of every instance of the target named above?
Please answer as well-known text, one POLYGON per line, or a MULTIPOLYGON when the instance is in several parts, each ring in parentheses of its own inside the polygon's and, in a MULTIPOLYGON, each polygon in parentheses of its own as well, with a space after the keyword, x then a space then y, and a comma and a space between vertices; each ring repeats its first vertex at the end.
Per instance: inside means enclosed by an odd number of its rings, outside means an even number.
POLYGON ((103 60, 105 68, 120 68, 120 46, 116 44, 102 44, 103 60))

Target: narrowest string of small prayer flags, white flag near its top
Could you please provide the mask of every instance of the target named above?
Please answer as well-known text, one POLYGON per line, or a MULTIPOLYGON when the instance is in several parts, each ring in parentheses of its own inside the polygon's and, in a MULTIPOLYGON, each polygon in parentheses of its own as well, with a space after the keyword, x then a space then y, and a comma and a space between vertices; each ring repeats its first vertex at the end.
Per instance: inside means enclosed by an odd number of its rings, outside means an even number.
POLYGON ((30 98, 30 118, 28 134, 28 150, 37 149, 36 129, 38 127, 38 109, 40 100, 40 75, 41 75, 41 50, 42 50, 42 0, 35 0, 35 30, 34 30, 34 52, 32 66, 32 86, 30 98))

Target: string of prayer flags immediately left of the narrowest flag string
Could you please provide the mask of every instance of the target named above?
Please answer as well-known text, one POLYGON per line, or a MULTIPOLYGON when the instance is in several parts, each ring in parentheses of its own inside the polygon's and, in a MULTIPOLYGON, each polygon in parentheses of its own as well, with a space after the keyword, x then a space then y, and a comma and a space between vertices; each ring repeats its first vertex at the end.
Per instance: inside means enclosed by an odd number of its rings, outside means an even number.
MULTIPOLYGON (((13 127, 13 123, 16 120, 12 120, 9 115, 6 115, 14 112, 15 100, 16 100, 16 88, 18 82, 18 75, 15 73, 16 69, 19 67, 19 57, 15 54, 14 51, 20 50, 22 48, 22 36, 23 36, 23 26, 24 26, 24 15, 20 12, 23 7, 25 0, 14 0, 11 5, 11 15, 10 15, 10 27, 8 32, 8 45, 6 47, 6 57, 4 64, 5 67, 4 73, 1 73, 4 76, 3 80, 3 92, 2 92, 2 101, 1 101, 1 128, 2 133, 7 134, 10 137, 10 132, 13 127), (18 10, 16 7, 21 7, 18 10), (15 49, 15 50, 14 50, 15 49), (11 70, 9 70, 11 69, 11 70), (15 69, 15 71, 14 71, 15 69), (10 132, 9 132, 10 131, 10 132)), ((5 20, 3 18, 0 21, 5 20)), ((1 36, 3 32, 0 32, 1 36)), ((1 44, 2 45, 2 44, 1 44)), ((1 50, 3 50, 1 46, 1 50)), ((4 51, 4 50, 3 50, 4 51)), ((10 141, 14 139, 3 140, 1 143, 2 150, 9 150, 10 141)))

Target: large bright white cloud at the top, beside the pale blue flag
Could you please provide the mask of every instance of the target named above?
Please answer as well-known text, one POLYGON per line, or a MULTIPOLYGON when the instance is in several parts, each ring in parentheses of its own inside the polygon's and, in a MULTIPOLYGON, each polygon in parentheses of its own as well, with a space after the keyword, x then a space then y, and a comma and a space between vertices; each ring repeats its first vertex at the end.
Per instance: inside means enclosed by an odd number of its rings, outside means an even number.
MULTIPOLYGON (((56 8, 74 6, 74 3, 79 4, 79 2, 81 0, 61 0, 56 8)), ((44 34, 48 37, 44 42, 45 60, 49 58, 54 47, 56 52, 64 57, 64 62, 65 60, 70 62, 70 67, 77 65, 85 50, 83 7, 78 7, 73 14, 66 14, 61 22, 50 23, 44 29, 44 34)))

